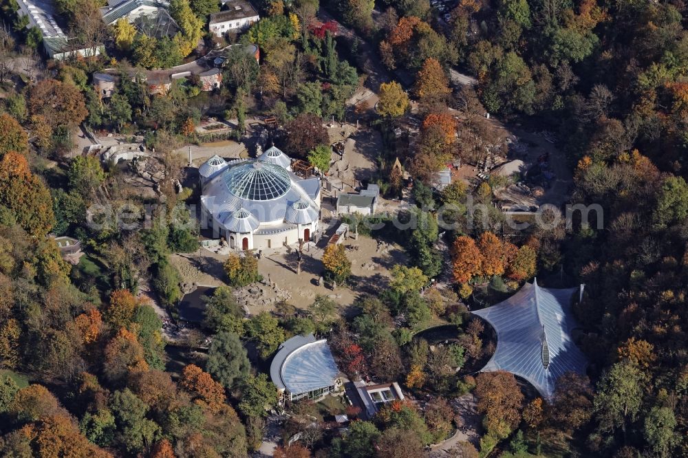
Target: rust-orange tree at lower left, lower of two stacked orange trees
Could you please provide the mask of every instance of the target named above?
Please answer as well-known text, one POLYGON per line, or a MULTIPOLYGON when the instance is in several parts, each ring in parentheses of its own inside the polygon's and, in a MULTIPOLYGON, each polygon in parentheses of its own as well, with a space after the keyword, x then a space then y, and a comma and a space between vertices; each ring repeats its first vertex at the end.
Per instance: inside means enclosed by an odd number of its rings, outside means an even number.
POLYGON ((129 371, 147 371, 143 347, 136 336, 125 328, 120 328, 117 335, 105 347, 103 373, 111 382, 122 380, 129 371))

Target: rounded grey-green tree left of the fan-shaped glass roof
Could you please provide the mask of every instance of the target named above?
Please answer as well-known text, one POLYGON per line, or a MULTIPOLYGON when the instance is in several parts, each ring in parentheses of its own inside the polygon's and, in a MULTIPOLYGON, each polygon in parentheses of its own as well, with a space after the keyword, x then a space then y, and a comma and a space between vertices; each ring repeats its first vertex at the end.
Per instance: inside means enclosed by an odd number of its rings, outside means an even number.
POLYGON ((250 364, 239 336, 222 331, 213 336, 206 370, 227 389, 233 389, 248 374, 250 364))

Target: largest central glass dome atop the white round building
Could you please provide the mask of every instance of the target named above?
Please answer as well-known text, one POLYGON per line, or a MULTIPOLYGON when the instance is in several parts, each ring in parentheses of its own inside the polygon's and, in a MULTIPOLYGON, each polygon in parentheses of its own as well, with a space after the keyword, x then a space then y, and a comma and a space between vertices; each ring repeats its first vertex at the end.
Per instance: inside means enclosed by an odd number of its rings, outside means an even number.
POLYGON ((230 168, 223 178, 230 193, 248 200, 277 199, 292 185, 286 170, 258 160, 230 168))

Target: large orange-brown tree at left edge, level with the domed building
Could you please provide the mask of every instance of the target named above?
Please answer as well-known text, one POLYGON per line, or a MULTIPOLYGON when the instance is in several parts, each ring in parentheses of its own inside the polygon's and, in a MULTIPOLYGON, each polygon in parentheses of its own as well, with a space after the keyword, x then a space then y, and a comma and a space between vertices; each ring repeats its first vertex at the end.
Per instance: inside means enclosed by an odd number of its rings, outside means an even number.
POLYGON ((14 151, 0 160, 0 205, 37 239, 45 237, 55 223, 50 191, 31 173, 26 157, 14 151))

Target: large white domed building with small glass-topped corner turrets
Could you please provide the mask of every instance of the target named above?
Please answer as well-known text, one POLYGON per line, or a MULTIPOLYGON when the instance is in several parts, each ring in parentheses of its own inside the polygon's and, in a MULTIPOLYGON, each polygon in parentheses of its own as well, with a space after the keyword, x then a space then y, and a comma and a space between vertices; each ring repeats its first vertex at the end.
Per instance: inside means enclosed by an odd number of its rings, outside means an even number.
POLYGON ((211 157, 198 168, 202 222, 239 251, 311 240, 319 229, 320 179, 301 179, 290 163, 274 146, 257 159, 211 157))

